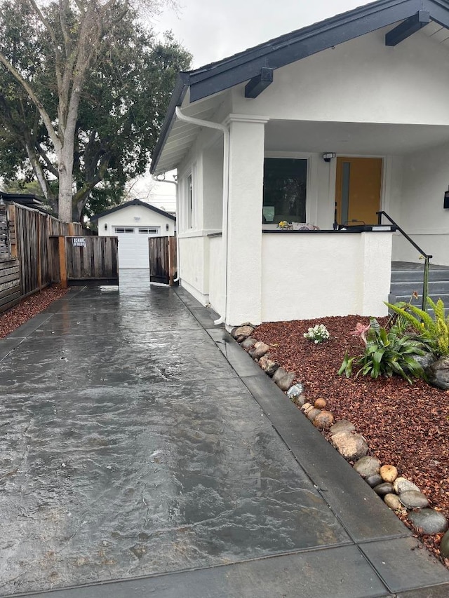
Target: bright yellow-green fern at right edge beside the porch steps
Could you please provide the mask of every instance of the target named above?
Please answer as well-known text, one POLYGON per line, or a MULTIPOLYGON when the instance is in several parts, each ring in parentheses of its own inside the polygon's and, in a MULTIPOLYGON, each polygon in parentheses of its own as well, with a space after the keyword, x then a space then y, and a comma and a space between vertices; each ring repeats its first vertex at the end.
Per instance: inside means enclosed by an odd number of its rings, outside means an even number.
POLYGON ((426 344, 437 356, 449 355, 449 316, 445 317, 444 303, 441 299, 432 301, 427 297, 427 306, 434 310, 434 318, 427 311, 404 301, 396 304, 385 302, 391 311, 408 322, 420 341, 426 344))

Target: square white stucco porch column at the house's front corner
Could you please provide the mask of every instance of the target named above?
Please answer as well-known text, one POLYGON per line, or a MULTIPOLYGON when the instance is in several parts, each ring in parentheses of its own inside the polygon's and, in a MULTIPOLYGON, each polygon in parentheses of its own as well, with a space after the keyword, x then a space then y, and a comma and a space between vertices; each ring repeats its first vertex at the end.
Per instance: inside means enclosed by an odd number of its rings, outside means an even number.
POLYGON ((229 115, 229 205, 226 323, 262 321, 262 194, 264 125, 261 116, 229 115))

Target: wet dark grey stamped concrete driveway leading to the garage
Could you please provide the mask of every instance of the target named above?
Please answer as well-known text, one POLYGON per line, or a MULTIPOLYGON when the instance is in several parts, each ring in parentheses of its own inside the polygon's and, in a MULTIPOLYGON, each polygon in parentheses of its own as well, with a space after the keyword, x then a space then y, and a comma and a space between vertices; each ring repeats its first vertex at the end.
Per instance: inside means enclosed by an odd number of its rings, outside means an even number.
POLYGON ((213 317, 121 271, 0 341, 0 596, 448 595, 213 317))

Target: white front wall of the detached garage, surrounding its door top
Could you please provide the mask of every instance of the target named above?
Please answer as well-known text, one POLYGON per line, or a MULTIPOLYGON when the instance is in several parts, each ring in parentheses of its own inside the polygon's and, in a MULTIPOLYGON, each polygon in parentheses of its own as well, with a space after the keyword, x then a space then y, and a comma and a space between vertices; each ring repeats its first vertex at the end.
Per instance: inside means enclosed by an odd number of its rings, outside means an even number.
POLYGON ((141 205, 130 205, 123 210, 116 210, 98 219, 98 235, 114 236, 114 226, 160 226, 162 236, 173 236, 175 221, 158 212, 143 208, 141 205), (105 230, 107 224, 107 230, 105 230), (168 231, 166 230, 168 224, 168 231))

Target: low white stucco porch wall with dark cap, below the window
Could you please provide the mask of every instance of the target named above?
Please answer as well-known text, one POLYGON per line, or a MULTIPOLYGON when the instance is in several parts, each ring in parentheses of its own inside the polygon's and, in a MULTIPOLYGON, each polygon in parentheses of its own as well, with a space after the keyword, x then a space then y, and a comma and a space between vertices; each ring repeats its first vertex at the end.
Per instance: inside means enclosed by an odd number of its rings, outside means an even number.
POLYGON ((391 233, 265 233, 262 320, 386 315, 390 276, 391 233))

